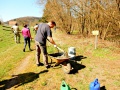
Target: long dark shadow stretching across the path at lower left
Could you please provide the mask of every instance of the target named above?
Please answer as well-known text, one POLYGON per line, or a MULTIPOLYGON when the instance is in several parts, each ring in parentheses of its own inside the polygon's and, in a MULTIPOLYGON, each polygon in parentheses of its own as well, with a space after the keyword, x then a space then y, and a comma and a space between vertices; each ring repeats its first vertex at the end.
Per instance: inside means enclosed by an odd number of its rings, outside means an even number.
POLYGON ((0 90, 10 89, 13 86, 17 88, 23 84, 34 81, 35 79, 39 78, 39 74, 46 72, 48 72, 48 70, 44 70, 39 73, 29 72, 29 73, 13 75, 11 79, 0 81, 0 90))

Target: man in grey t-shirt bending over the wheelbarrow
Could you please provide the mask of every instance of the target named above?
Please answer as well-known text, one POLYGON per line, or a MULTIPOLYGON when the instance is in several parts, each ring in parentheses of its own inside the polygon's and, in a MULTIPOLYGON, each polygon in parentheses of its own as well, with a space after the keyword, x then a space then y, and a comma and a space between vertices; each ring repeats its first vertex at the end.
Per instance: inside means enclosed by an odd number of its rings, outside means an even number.
POLYGON ((47 47, 46 40, 57 47, 53 38, 51 28, 56 26, 54 21, 50 21, 48 23, 40 23, 38 24, 37 33, 35 36, 35 44, 36 44, 36 64, 37 66, 45 66, 47 69, 50 68, 48 64, 48 56, 47 56, 47 47), (40 54, 43 53, 43 63, 40 62, 40 54))

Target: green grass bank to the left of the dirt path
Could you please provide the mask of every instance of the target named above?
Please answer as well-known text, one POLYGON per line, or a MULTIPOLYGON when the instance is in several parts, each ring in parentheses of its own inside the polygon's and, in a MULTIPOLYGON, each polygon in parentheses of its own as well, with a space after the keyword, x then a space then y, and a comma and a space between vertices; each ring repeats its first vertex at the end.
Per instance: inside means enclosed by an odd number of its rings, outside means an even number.
POLYGON ((16 44, 14 34, 11 31, 3 30, 0 25, 0 78, 7 76, 8 71, 15 68, 17 63, 29 54, 29 52, 22 52, 23 45, 22 35, 21 44, 16 44))

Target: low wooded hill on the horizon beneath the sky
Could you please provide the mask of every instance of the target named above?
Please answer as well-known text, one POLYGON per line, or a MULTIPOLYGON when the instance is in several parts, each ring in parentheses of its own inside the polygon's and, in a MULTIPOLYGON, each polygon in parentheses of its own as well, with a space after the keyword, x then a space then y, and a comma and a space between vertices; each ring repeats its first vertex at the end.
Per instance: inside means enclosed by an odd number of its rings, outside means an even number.
MULTIPOLYGON (((23 25, 23 24, 29 24, 29 25, 35 25, 36 23, 39 23, 41 17, 31 17, 31 16, 27 16, 27 17, 20 17, 20 18, 15 18, 15 19, 11 19, 9 21, 16 21, 19 25, 23 25)), ((9 24, 9 21, 4 22, 5 24, 9 24)))

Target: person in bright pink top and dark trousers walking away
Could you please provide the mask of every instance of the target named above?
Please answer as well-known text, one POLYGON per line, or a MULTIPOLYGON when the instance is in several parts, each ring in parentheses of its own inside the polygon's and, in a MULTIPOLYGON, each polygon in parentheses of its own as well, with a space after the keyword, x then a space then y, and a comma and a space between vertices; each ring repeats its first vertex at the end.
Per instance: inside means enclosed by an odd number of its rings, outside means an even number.
POLYGON ((23 35, 23 37, 24 37, 24 48, 23 48, 23 52, 25 52, 27 43, 28 43, 29 50, 32 51, 32 49, 30 48, 30 39, 31 39, 32 37, 31 37, 30 30, 27 28, 27 24, 25 24, 25 25, 24 25, 24 28, 22 29, 22 35, 23 35))

